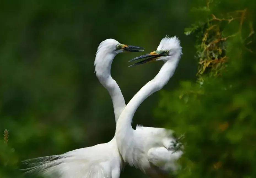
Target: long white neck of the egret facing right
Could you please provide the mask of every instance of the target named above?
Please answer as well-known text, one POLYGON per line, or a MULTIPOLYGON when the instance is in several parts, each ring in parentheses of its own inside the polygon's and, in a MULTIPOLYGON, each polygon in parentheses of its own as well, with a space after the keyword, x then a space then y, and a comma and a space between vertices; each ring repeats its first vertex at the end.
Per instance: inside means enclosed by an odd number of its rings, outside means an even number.
POLYGON ((125 108, 125 100, 123 94, 116 83, 116 81, 111 77, 111 64, 115 57, 115 54, 104 53, 98 51, 95 58, 95 72, 99 79, 99 82, 107 89, 109 92, 115 113, 115 122, 117 122, 120 114, 125 108))

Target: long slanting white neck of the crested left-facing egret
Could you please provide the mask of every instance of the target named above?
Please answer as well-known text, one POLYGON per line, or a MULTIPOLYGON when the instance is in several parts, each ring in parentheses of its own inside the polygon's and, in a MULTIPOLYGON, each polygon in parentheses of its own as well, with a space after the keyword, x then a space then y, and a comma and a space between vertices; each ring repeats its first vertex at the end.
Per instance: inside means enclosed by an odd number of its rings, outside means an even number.
POLYGON ((136 95, 130 100, 130 102, 126 105, 122 114, 119 117, 116 127, 116 133, 124 133, 123 137, 125 137, 126 133, 129 133, 129 130, 132 129, 131 122, 134 116, 135 111, 139 107, 139 105, 151 94, 156 91, 159 91, 163 88, 169 81, 169 79, 173 76, 174 71, 179 62, 179 57, 176 59, 169 60, 163 64, 158 74, 153 78, 153 80, 149 81, 145 86, 143 86, 136 95))

